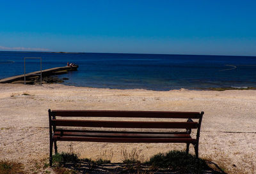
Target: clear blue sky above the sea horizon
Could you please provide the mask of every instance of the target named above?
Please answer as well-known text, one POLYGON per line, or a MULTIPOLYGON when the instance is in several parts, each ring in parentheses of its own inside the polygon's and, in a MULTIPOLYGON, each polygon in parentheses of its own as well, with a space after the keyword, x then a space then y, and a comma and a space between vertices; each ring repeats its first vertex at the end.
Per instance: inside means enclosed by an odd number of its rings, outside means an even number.
POLYGON ((256 55, 256 1, 1 1, 0 50, 256 55))

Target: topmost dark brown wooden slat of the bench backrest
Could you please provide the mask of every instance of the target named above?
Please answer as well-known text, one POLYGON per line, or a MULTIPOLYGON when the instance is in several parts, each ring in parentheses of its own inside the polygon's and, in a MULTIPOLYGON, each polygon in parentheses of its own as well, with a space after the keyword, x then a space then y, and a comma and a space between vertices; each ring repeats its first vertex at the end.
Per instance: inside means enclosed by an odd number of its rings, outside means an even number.
POLYGON ((116 111, 116 110, 52 110, 61 117, 138 117, 138 118, 176 118, 199 119, 199 112, 161 112, 161 111, 116 111))

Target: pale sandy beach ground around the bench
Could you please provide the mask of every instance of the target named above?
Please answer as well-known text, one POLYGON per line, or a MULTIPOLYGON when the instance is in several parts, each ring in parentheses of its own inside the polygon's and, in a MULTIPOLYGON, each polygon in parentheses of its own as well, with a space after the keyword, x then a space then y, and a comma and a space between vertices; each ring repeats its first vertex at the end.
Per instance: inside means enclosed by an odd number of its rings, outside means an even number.
MULTIPOLYGON (((256 91, 147 91, 95 89, 61 84, 43 86, 0 84, 0 159, 31 165, 49 157, 47 110, 163 110, 201 112, 205 115, 199 156, 228 173, 256 173, 256 91)), ((58 142, 80 157, 110 156, 122 161, 120 151, 136 150, 147 160, 158 152, 184 150, 178 143, 58 142), (106 151, 107 155, 104 154, 106 151)), ((190 153, 194 150, 191 146, 190 153)))

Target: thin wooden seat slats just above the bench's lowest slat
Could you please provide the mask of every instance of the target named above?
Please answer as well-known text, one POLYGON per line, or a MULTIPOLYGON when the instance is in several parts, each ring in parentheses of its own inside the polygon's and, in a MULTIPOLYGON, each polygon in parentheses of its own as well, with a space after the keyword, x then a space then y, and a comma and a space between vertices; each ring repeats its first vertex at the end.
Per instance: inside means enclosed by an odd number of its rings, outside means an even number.
POLYGON ((86 133, 86 132, 71 132, 71 131, 56 131, 54 133, 56 136, 95 136, 95 137, 134 137, 134 138, 191 138, 189 134, 184 133, 86 133))

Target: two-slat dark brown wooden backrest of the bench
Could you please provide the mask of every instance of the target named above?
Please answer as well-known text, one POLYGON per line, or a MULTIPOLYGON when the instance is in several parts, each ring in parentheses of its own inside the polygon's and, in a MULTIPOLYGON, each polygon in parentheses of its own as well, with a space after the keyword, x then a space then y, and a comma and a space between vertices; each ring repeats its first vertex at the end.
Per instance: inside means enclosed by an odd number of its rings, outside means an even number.
POLYGON ((204 112, 160 112, 160 111, 98 111, 98 110, 49 110, 50 126, 74 127, 116 127, 116 128, 200 128, 204 112), (56 117, 125 117, 125 118, 164 118, 188 119, 183 122, 165 121, 112 121, 112 120, 72 120, 56 117), (192 119, 198 119, 194 122, 192 119))

